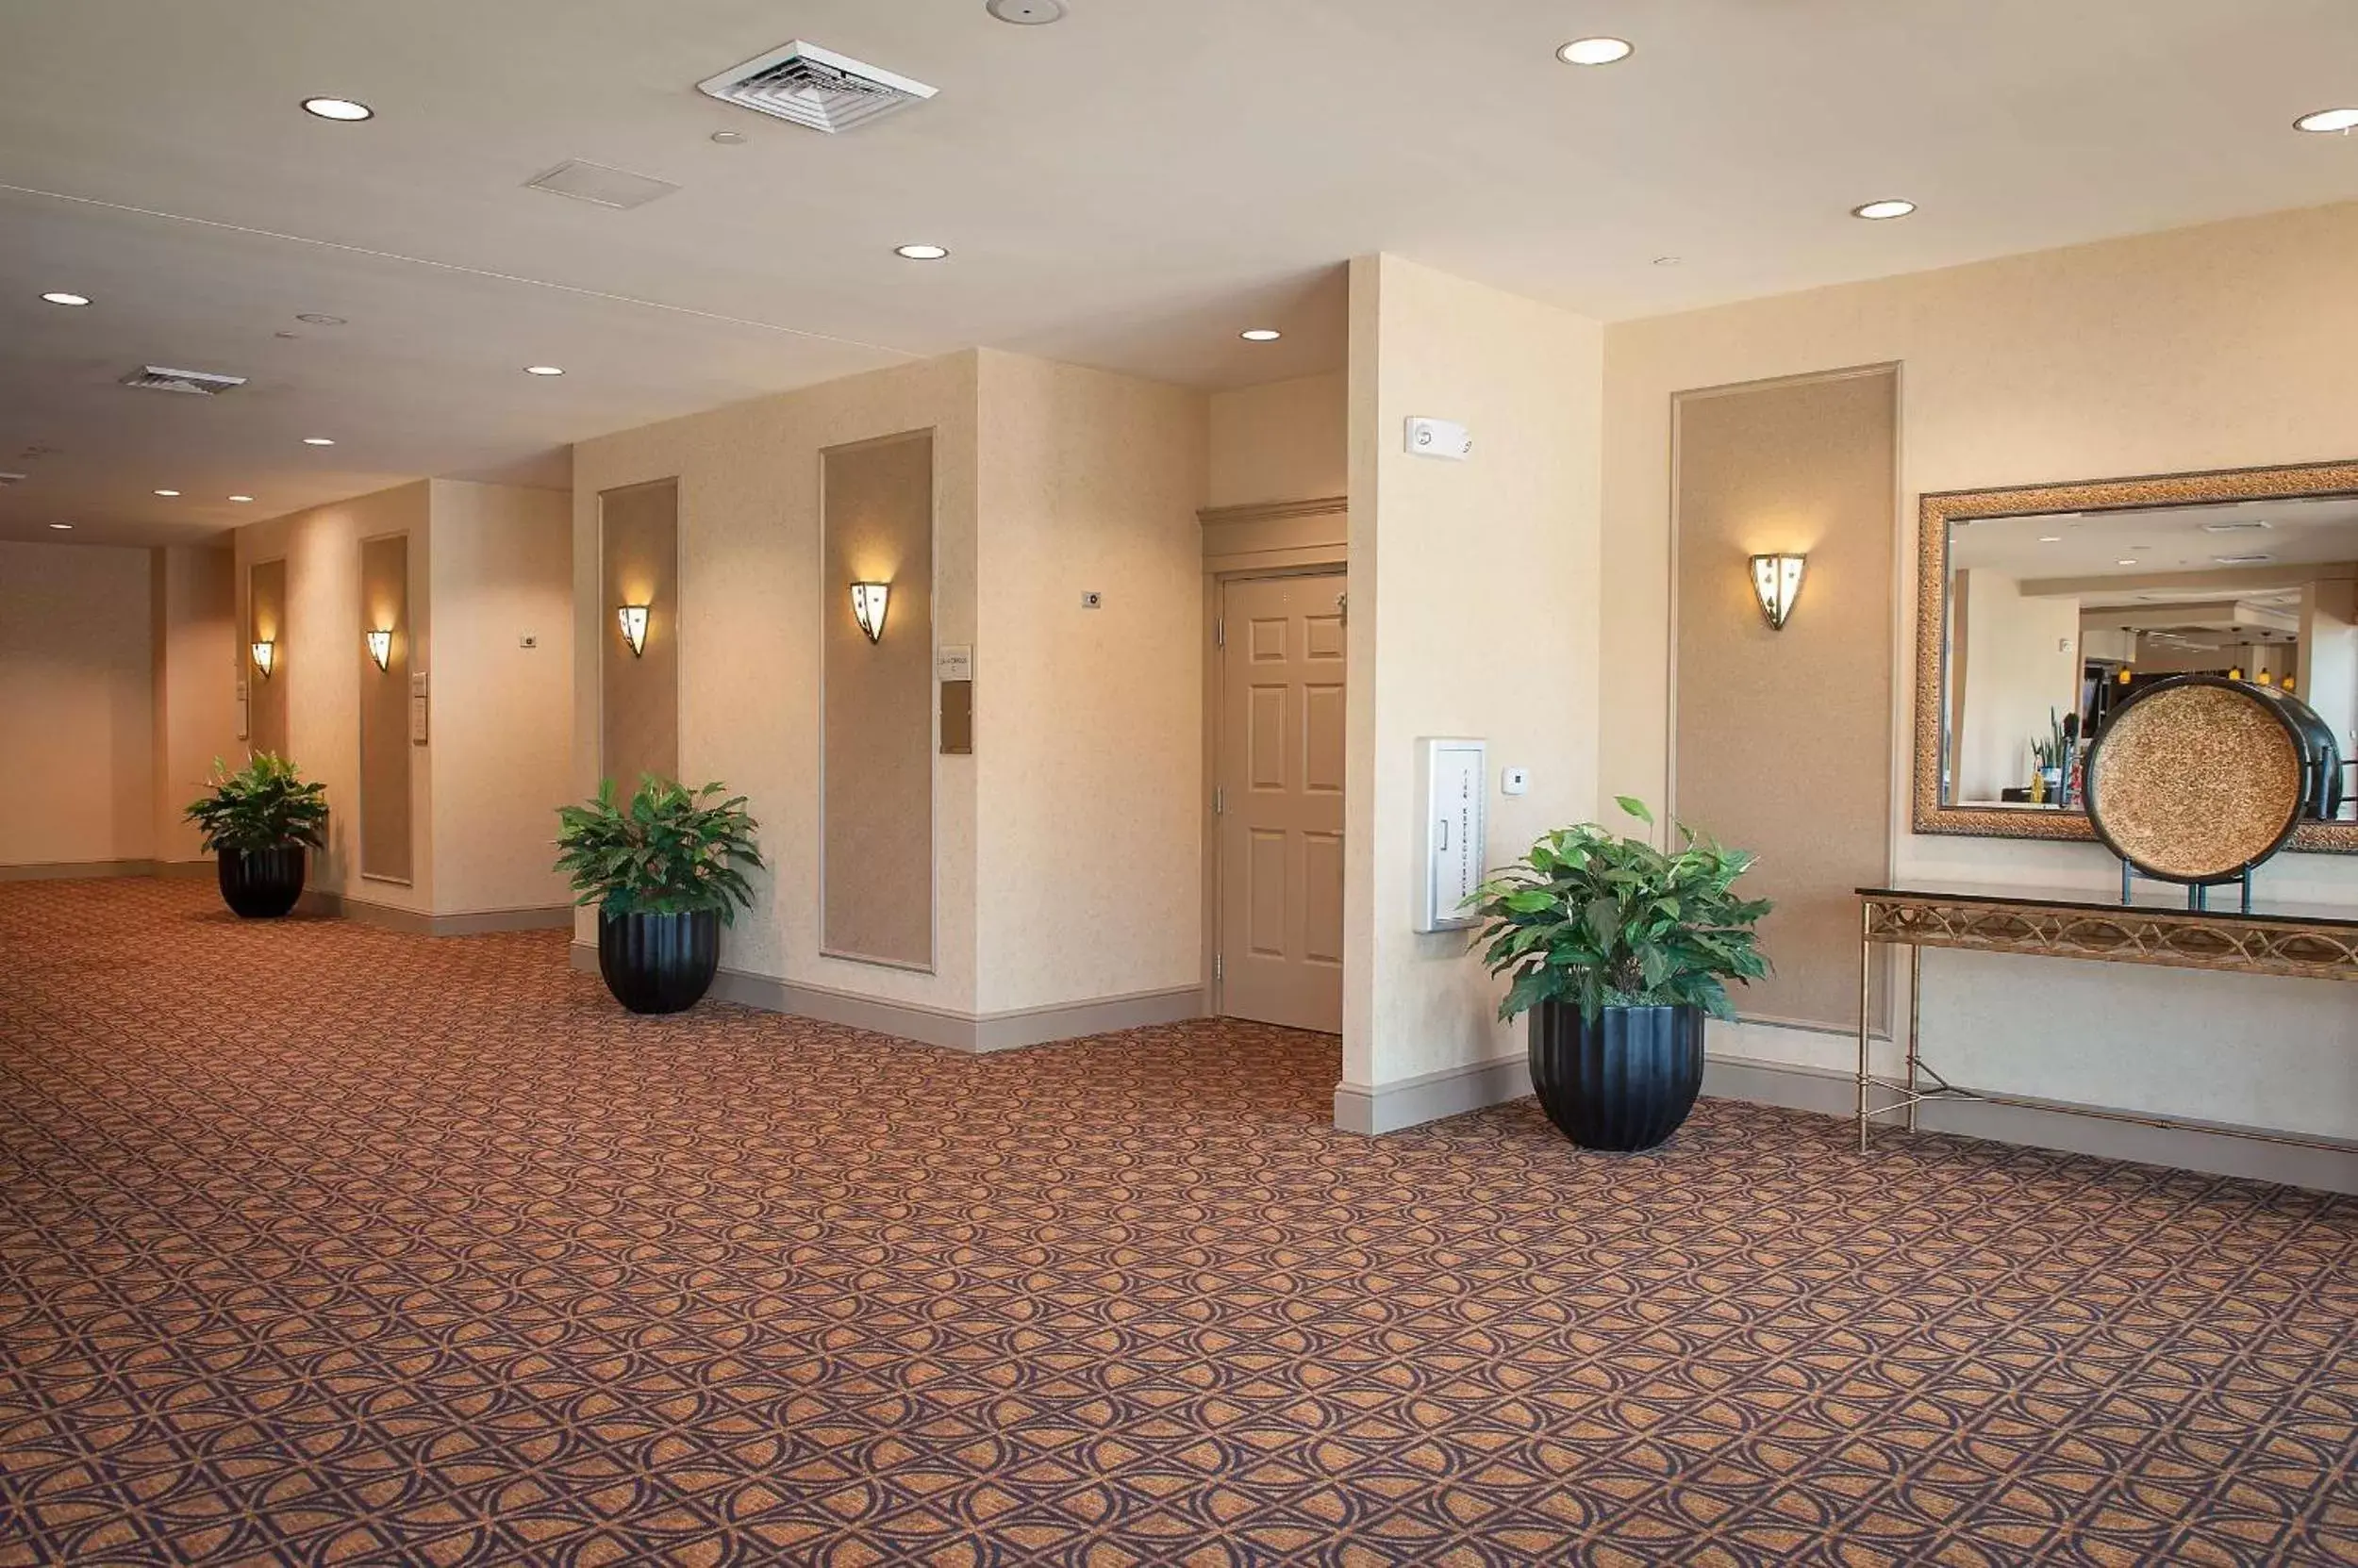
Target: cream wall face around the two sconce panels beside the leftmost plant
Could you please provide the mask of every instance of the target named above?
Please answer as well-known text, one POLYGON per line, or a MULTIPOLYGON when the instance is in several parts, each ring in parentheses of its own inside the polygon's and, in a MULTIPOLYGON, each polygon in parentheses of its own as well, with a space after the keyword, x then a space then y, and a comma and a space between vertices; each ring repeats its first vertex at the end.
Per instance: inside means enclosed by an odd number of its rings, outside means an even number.
MULTIPOLYGON (((361 879, 361 540, 410 535, 410 670, 432 672, 429 531, 432 483, 424 479, 236 531, 241 594, 255 561, 283 556, 288 564, 288 627, 271 681, 285 693, 288 757, 304 778, 328 785, 328 849, 311 856, 311 887, 417 915, 434 910, 432 747, 410 747, 410 884, 361 879)), ((245 625, 243 604, 238 625, 245 625)))

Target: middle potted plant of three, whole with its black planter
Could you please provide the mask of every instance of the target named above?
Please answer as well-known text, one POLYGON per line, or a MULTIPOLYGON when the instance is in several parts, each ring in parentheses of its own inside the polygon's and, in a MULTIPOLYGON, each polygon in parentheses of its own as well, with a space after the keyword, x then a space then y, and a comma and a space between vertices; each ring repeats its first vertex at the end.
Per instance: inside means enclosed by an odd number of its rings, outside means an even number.
POLYGON ((757 823, 743 795, 714 804, 719 792, 648 773, 630 804, 608 778, 587 806, 556 811, 556 870, 573 877, 578 903, 599 905, 597 969, 632 1012, 696 1007, 722 964, 722 924, 752 903, 757 823))

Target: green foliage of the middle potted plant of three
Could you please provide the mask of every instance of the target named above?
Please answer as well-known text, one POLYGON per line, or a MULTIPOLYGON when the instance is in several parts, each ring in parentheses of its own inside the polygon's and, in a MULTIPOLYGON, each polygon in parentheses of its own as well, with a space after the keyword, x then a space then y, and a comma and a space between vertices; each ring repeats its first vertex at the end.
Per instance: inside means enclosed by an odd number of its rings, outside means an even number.
POLYGON ((733 922, 752 903, 745 870, 762 865, 759 823, 745 816, 743 795, 712 804, 719 792, 648 773, 630 804, 615 802, 608 778, 587 806, 559 806, 556 870, 573 879, 575 903, 613 915, 717 910, 733 922))

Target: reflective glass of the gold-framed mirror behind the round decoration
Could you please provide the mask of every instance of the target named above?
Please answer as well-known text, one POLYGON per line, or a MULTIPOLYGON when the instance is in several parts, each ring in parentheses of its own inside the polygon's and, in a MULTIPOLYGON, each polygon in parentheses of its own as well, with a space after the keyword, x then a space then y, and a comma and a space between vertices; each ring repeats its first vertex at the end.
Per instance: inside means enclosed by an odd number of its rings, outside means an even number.
POLYGON ((1945 587, 1943 804, 2080 811, 2108 714, 2176 674, 2290 691, 2358 757, 2358 495, 1962 519, 1945 587))

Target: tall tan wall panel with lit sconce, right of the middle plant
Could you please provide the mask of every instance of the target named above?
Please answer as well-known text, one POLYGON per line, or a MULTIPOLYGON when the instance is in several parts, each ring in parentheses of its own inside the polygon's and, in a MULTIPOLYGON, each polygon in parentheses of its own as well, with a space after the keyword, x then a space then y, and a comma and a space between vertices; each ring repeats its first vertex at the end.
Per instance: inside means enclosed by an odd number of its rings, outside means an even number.
POLYGON ((934 964, 934 431, 821 453, 821 948, 934 964), (884 632, 851 615, 887 582, 884 632))

